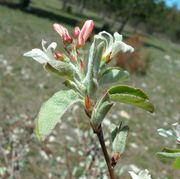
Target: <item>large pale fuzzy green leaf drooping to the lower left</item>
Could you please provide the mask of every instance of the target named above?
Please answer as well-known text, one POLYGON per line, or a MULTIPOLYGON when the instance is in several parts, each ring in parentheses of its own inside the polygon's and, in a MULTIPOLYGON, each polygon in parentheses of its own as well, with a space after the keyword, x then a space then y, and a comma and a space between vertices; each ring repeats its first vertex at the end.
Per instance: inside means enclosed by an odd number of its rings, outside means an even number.
POLYGON ((36 118, 37 137, 42 139, 49 135, 67 109, 77 101, 79 97, 73 90, 59 91, 47 100, 36 118))

